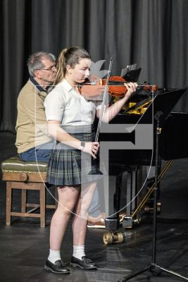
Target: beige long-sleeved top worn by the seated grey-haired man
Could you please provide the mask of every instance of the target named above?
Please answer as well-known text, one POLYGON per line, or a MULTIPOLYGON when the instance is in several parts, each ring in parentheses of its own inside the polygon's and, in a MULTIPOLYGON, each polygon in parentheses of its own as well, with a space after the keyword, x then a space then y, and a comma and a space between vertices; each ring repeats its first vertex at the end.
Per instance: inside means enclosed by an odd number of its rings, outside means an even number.
POLYGON ((51 140, 46 127, 44 99, 47 93, 39 91, 28 80, 18 95, 16 142, 18 153, 27 151, 51 140))

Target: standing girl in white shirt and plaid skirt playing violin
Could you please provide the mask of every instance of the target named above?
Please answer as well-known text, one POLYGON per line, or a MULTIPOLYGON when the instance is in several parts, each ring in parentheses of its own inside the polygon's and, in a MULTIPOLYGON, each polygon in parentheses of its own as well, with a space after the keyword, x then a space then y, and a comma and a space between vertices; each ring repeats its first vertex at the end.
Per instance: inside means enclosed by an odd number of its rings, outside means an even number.
MULTIPOLYGON (((45 269, 68 274, 60 250, 70 214, 73 218, 73 256, 70 264, 81 269, 96 269, 96 264, 84 252, 89 205, 102 177, 97 174, 96 154, 99 142, 94 142, 94 118, 99 118, 101 104, 88 101, 80 94, 78 85, 89 76, 91 58, 80 47, 63 49, 58 57, 56 86, 44 102, 49 135, 56 140, 49 160, 48 182, 57 185, 58 207, 51 219, 49 257, 45 269), (91 173, 92 172, 92 173, 91 173)), ((104 108, 102 121, 108 123, 122 109, 137 88, 127 83, 125 97, 104 108)))

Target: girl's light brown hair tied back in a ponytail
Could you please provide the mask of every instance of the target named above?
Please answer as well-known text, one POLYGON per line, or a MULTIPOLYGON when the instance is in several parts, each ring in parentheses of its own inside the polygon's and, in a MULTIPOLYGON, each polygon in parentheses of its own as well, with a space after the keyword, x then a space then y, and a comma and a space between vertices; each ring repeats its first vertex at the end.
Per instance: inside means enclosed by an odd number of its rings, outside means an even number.
POLYGON ((70 47, 69 49, 65 48, 61 50, 58 55, 57 74, 54 85, 63 80, 67 71, 66 67, 70 65, 71 68, 74 68, 75 65, 79 63, 79 59, 91 59, 91 57, 89 53, 81 47, 70 47))

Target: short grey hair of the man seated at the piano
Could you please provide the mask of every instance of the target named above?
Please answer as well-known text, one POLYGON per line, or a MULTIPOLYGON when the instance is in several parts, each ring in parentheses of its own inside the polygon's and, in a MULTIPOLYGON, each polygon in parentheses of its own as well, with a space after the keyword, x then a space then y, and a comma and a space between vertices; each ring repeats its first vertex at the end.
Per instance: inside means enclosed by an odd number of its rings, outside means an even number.
POLYGON ((48 59, 50 61, 56 62, 56 57, 51 53, 39 51, 35 54, 32 54, 27 60, 27 67, 31 76, 34 76, 35 71, 44 68, 42 59, 48 59))

